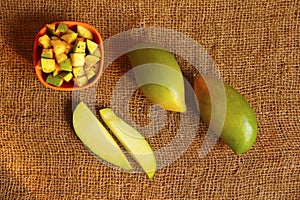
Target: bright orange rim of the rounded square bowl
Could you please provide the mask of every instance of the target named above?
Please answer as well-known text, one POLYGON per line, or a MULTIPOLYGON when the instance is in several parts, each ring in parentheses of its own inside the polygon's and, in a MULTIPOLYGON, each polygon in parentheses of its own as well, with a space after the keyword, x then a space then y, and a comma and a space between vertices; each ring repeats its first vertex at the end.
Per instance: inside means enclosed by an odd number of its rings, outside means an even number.
MULTIPOLYGON (((54 86, 54 85, 51 85, 51 84, 47 83, 46 80, 42 76, 43 75, 43 71, 39 67, 39 56, 37 55, 37 51, 38 51, 38 48, 39 48, 38 39, 47 32, 47 27, 46 27, 46 24, 45 24, 39 30, 39 32, 37 33, 37 35, 35 37, 35 41, 34 41, 34 46, 33 46, 33 64, 34 64, 34 69, 35 69, 35 73, 37 75, 37 78, 39 79, 39 81, 44 86, 46 86, 48 88, 51 88, 51 89, 54 89, 54 90, 75 91, 75 90, 83 90, 83 89, 89 88, 89 87, 91 87, 92 85, 94 85, 99 80, 99 78, 100 78, 100 76, 102 74, 102 71, 103 71, 104 50, 103 50, 103 41, 102 41, 101 35, 97 31, 97 29, 95 29, 95 27, 93 27, 92 25, 87 24, 85 22, 66 21, 66 20, 64 20, 64 21, 55 21, 55 22, 51 22, 51 23, 47 23, 47 24, 55 24, 55 25, 57 25, 59 23, 65 23, 65 24, 68 25, 68 27, 70 27, 70 26, 76 26, 76 25, 84 26, 84 27, 88 28, 92 32, 94 38, 96 36, 96 38, 97 38, 96 43, 98 43, 98 45, 99 45, 100 54, 101 54, 101 59, 100 59, 100 63, 99 63, 98 73, 97 73, 96 77, 91 82, 89 82, 88 84, 85 84, 85 85, 83 85, 81 87, 75 87, 74 85, 73 85, 73 87, 57 87, 57 86, 54 86)), ((93 39, 93 41, 95 42, 94 39, 93 39)))

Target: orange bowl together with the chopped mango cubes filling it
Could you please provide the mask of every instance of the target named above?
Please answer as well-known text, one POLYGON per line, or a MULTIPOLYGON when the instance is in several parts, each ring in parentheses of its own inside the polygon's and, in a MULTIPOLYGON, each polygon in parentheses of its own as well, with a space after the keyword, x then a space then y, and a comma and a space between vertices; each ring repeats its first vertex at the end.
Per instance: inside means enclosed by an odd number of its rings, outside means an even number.
POLYGON ((94 85, 103 70, 103 57, 101 35, 83 22, 46 24, 34 42, 36 75, 43 85, 55 90, 80 90, 94 85))

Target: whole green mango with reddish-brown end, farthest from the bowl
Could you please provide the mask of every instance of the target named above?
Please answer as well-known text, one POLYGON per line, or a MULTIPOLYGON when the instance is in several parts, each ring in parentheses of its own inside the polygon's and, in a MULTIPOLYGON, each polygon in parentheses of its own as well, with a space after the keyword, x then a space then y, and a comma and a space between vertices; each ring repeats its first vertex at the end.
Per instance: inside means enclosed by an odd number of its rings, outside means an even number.
MULTIPOLYGON (((224 106, 226 103, 225 121, 220 138, 235 154, 241 155, 252 147, 256 139, 257 121, 253 109, 246 99, 229 85, 214 78, 201 75, 195 76, 194 90, 198 100, 200 116, 207 126, 211 121, 212 108, 209 91, 213 91, 214 95, 218 96, 222 88, 225 88, 226 102, 220 102, 216 99, 214 105, 216 110, 222 110, 220 106, 224 106), (222 84, 224 84, 224 87, 222 84)), ((221 117, 218 116, 214 120, 216 122, 222 121, 221 117)), ((214 131, 213 127, 212 131, 214 131)))

